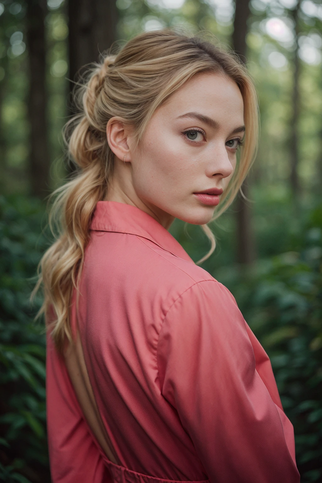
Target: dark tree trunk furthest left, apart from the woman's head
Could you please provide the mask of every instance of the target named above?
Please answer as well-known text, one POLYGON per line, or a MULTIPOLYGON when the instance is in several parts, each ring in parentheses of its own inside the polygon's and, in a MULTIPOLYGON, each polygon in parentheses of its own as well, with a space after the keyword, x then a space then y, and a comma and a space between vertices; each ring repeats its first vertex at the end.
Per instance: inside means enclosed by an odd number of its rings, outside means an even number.
POLYGON ((49 152, 47 142, 45 91, 45 29, 46 0, 27 2, 27 44, 29 54, 30 122, 29 174, 31 193, 44 198, 49 192, 49 152))

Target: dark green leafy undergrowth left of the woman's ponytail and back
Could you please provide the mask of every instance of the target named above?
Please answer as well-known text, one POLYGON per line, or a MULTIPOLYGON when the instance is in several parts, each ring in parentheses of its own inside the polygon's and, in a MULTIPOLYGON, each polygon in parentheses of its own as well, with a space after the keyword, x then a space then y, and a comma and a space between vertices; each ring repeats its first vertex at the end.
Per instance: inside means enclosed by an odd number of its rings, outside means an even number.
POLYGON ((45 336, 29 303, 46 246, 38 200, 0 197, 0 481, 49 480, 45 413, 45 336), (26 477, 28 479, 26 479, 26 477))

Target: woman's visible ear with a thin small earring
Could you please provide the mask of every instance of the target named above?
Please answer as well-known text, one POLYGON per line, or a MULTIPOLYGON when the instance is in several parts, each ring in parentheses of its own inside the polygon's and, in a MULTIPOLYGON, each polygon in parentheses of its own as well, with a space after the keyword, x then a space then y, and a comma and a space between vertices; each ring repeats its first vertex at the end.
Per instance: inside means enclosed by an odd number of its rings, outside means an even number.
POLYGON ((112 117, 106 126, 107 142, 112 152, 119 160, 131 161, 128 138, 133 133, 133 128, 124 124, 119 118, 112 117))

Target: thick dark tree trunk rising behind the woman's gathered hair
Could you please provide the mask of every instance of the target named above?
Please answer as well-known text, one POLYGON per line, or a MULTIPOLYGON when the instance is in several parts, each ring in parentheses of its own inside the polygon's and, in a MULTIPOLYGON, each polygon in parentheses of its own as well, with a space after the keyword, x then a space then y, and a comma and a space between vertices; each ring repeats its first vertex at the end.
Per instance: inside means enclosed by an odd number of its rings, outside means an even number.
MULTIPOLYGON (((117 9, 115 0, 69 0, 69 78, 98 60, 116 39, 117 9)), ((70 82, 70 91, 74 83, 70 82)))

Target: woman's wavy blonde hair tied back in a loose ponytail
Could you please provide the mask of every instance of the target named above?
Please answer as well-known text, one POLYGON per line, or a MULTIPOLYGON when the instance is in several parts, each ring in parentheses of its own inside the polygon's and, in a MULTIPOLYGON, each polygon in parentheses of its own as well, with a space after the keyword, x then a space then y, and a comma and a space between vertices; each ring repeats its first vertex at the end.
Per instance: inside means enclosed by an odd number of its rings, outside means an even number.
MULTIPOLYGON (((52 310, 53 321, 48 326, 52 327, 58 350, 62 350, 66 337, 71 339, 71 294, 82 271, 96 204, 105 198, 112 175, 113 153, 106 138, 109 119, 116 116, 121 122, 134 125, 139 144, 155 110, 192 76, 214 72, 234 80, 244 101, 245 143, 213 219, 235 198, 252 165, 258 138, 258 103, 252 80, 235 54, 210 42, 189 38, 169 28, 146 32, 126 43, 116 56, 102 56, 101 63, 93 65, 85 82, 76 86, 74 92, 78 114, 64 128, 68 154, 78 170, 51 195, 50 199, 53 196, 56 199, 50 227, 53 230, 56 223, 58 233, 42 256, 39 280, 32 294, 43 285, 44 301, 38 316, 52 310)), ((211 248, 198 264, 215 248, 212 231, 207 225, 202 228, 211 248)))

